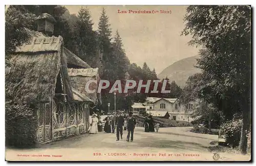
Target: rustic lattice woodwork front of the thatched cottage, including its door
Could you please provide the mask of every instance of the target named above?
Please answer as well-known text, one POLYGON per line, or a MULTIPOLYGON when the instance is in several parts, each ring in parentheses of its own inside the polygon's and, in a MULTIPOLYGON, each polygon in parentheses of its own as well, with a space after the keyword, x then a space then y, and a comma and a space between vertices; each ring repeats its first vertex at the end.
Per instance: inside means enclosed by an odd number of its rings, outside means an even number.
POLYGON ((37 111, 38 143, 82 134, 89 129, 89 107, 85 104, 59 102, 39 104, 37 111))

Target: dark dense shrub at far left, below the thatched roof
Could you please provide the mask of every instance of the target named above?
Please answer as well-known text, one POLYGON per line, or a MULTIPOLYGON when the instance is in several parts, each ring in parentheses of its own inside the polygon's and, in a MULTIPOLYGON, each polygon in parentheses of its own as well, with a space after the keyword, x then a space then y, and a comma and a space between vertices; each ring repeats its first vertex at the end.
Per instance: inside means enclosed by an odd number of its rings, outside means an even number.
POLYGON ((37 118, 27 105, 6 102, 6 146, 27 148, 36 145, 37 118))

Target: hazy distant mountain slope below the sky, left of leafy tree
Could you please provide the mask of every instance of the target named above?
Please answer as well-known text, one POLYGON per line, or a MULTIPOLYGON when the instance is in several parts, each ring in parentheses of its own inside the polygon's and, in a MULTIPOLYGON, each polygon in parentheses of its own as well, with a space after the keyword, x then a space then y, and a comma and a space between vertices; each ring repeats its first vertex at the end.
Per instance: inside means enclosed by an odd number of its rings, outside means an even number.
POLYGON ((201 70, 196 68, 197 58, 199 56, 193 56, 179 60, 172 65, 169 65, 157 76, 159 79, 169 78, 170 82, 175 81, 177 85, 183 88, 189 76, 196 73, 200 73, 201 70))

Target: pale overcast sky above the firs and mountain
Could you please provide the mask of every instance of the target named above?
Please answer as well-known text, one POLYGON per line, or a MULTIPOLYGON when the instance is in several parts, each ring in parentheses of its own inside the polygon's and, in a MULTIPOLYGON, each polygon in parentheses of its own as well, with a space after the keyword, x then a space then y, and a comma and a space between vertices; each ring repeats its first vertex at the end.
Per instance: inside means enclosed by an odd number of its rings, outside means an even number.
MULTIPOLYGON (((81 7, 88 7, 97 30, 103 6, 66 6, 71 14, 78 14, 81 7)), ((188 46, 190 36, 180 36, 184 28, 183 16, 186 6, 104 6, 109 16, 112 34, 116 30, 122 38, 126 56, 131 62, 142 66, 144 62, 157 74, 186 57, 198 54, 198 49, 188 46), (118 13, 129 10, 158 10, 155 14, 118 13), (170 10, 172 14, 161 14, 170 10)))

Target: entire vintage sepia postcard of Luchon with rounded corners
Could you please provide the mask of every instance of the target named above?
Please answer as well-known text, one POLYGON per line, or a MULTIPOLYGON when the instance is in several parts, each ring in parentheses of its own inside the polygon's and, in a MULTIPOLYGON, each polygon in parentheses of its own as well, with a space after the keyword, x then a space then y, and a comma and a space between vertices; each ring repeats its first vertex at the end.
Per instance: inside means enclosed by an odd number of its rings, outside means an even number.
POLYGON ((5 7, 7 161, 250 161, 250 6, 5 7))

